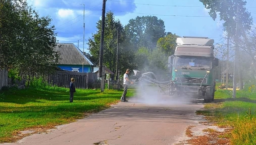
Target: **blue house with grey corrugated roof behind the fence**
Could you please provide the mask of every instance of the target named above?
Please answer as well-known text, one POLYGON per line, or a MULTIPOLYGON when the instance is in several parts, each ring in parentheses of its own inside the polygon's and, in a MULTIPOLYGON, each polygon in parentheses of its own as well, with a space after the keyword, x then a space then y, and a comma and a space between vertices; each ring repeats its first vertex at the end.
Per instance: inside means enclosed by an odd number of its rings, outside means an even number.
POLYGON ((59 54, 57 67, 61 70, 88 73, 97 66, 75 44, 57 43, 54 51, 59 54))

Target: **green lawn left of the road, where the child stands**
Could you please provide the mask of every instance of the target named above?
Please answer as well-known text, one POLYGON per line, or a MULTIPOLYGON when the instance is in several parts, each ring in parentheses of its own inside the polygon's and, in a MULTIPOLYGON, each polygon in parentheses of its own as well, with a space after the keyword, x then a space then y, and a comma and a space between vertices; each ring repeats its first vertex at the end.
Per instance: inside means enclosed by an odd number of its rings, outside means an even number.
MULTIPOLYGON (((129 89, 127 97, 133 95, 129 89)), ((77 89, 74 103, 69 90, 48 87, 0 92, 0 143, 17 140, 18 131, 30 128, 51 128, 82 119, 86 113, 104 110, 119 101, 122 90, 77 89)))

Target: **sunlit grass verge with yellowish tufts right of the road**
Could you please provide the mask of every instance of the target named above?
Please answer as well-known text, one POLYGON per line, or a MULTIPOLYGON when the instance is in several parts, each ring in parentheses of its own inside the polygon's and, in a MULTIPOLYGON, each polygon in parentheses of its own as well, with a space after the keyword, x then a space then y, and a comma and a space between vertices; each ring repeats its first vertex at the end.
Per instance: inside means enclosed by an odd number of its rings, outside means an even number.
POLYGON ((231 145, 256 145, 256 89, 232 91, 217 89, 215 103, 206 104, 197 111, 220 127, 230 127, 231 145))

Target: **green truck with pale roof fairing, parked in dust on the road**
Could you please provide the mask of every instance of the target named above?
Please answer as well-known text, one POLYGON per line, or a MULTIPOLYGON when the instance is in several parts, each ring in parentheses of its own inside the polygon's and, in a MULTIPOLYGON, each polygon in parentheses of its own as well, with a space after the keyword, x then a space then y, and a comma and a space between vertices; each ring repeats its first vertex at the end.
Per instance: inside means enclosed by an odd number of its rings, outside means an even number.
POLYGON ((214 101, 216 66, 214 40, 207 37, 177 38, 174 55, 168 58, 172 80, 178 95, 214 101))

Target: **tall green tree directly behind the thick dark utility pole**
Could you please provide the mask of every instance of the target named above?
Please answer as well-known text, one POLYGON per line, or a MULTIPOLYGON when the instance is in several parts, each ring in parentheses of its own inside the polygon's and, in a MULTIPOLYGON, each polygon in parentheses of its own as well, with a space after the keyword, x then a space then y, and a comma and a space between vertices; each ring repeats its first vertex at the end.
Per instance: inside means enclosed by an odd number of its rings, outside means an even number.
MULTIPOLYGON (((93 59, 99 58, 100 51, 100 39, 101 39, 101 26, 102 21, 97 22, 97 32, 93 34, 92 38, 89 38, 89 53, 92 55, 93 59)), ((111 71, 116 72, 116 58, 117 58, 117 28, 119 33, 119 66, 121 71, 124 68, 132 66, 132 62, 129 57, 132 53, 130 51, 128 41, 125 41, 124 27, 119 20, 115 20, 114 13, 109 11, 106 13, 105 22, 105 33, 104 33, 104 51, 103 51, 103 65, 108 67, 111 71)), ((116 73, 115 73, 116 74, 116 73)), ((114 79, 114 75, 111 76, 114 79)))

